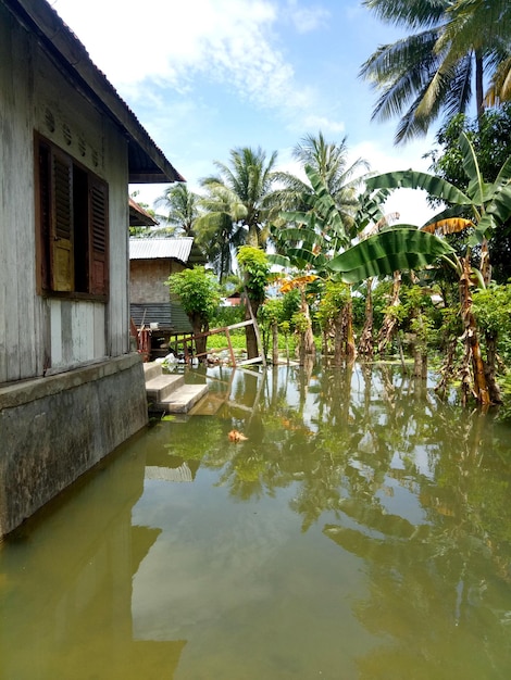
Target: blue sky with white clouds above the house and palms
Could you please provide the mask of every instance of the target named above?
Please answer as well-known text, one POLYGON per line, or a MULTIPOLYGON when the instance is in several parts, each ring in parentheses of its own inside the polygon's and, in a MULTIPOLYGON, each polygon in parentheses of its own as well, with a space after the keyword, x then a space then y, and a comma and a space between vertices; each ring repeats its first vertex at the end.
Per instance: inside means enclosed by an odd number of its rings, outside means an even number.
MULTIPOLYGON (((278 169, 297 172, 294 147, 320 130, 346 137, 350 162, 372 171, 427 171, 433 135, 396 148, 397 119, 371 121, 376 93, 360 67, 401 34, 361 0, 50 3, 194 191, 235 148, 276 151, 278 169)), ((165 187, 130 192, 152 207, 165 187)), ((416 225, 431 214, 424 192, 407 190, 386 211, 416 225)))

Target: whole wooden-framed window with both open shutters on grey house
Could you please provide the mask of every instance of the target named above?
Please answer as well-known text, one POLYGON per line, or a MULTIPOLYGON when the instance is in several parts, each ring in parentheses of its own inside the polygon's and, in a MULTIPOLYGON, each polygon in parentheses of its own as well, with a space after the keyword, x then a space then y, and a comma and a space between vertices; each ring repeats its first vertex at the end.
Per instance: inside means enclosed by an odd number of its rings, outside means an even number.
POLYGON ((108 185, 48 140, 37 136, 36 144, 39 290, 104 299, 108 185))

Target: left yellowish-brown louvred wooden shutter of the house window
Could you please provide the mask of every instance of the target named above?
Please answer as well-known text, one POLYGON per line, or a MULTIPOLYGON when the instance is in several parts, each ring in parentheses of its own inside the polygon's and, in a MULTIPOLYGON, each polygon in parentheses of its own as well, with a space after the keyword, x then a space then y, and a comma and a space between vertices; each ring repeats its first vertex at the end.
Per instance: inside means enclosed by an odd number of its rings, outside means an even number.
POLYGON ((71 159, 52 152, 52 210, 50 221, 50 270, 52 290, 74 288, 73 166, 71 159))

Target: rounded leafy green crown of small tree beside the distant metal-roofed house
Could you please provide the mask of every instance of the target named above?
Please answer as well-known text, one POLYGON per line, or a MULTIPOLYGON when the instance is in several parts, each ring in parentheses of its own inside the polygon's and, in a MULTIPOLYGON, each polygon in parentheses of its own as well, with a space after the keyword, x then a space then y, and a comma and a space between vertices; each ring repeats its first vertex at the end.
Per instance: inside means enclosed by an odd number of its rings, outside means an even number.
POLYGON ((171 274, 167 280, 171 292, 179 295, 183 308, 188 315, 198 314, 213 318, 220 304, 219 284, 211 272, 201 266, 171 274))

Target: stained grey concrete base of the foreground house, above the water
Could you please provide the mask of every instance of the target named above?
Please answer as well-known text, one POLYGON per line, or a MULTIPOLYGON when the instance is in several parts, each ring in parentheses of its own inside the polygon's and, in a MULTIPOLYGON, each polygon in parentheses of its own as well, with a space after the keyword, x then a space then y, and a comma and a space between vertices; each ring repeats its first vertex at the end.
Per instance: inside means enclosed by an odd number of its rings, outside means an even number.
POLYGON ((0 387, 0 537, 147 421, 138 354, 0 387))

